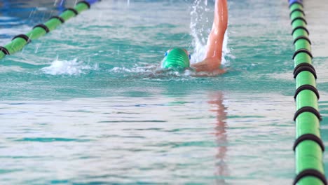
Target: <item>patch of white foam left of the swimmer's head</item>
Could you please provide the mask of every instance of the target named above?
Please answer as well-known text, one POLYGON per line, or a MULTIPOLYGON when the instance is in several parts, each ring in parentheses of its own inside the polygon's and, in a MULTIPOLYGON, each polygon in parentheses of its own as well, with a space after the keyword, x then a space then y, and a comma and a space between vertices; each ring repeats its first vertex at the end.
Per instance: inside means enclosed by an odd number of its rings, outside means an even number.
POLYGON ((83 64, 83 62, 78 62, 77 59, 74 60, 55 60, 49 67, 43 67, 41 71, 45 74, 52 75, 78 75, 78 74, 87 74, 90 70, 97 70, 98 65, 95 64, 91 67, 88 64, 83 64))

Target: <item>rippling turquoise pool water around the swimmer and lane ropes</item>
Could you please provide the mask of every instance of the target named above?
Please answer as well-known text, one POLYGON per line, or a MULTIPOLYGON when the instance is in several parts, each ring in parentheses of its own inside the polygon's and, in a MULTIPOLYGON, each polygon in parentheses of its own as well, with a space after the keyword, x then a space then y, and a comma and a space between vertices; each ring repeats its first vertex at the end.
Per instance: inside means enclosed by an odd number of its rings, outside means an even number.
MULTIPOLYGON (((316 1, 305 6, 326 143, 327 20, 316 1)), ((102 1, 1 60, 0 181, 291 184, 295 83, 287 2, 228 1, 228 73, 156 69, 174 46, 201 60, 212 21, 213 2, 206 2, 102 1)), ((54 4, 6 4, 18 11, 3 4, 1 46, 57 15, 54 4)))

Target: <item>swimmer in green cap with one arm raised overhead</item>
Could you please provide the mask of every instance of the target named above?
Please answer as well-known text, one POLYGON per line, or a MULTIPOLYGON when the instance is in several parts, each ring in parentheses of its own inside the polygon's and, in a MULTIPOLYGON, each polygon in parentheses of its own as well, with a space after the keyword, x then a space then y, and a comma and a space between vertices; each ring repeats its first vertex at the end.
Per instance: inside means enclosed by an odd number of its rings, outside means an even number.
POLYGON ((202 62, 190 64, 190 54, 184 48, 172 48, 165 53, 162 69, 188 69, 207 72, 207 76, 216 76, 226 72, 220 69, 224 33, 228 26, 228 8, 226 0, 215 0, 214 21, 207 39, 206 55, 202 62))

